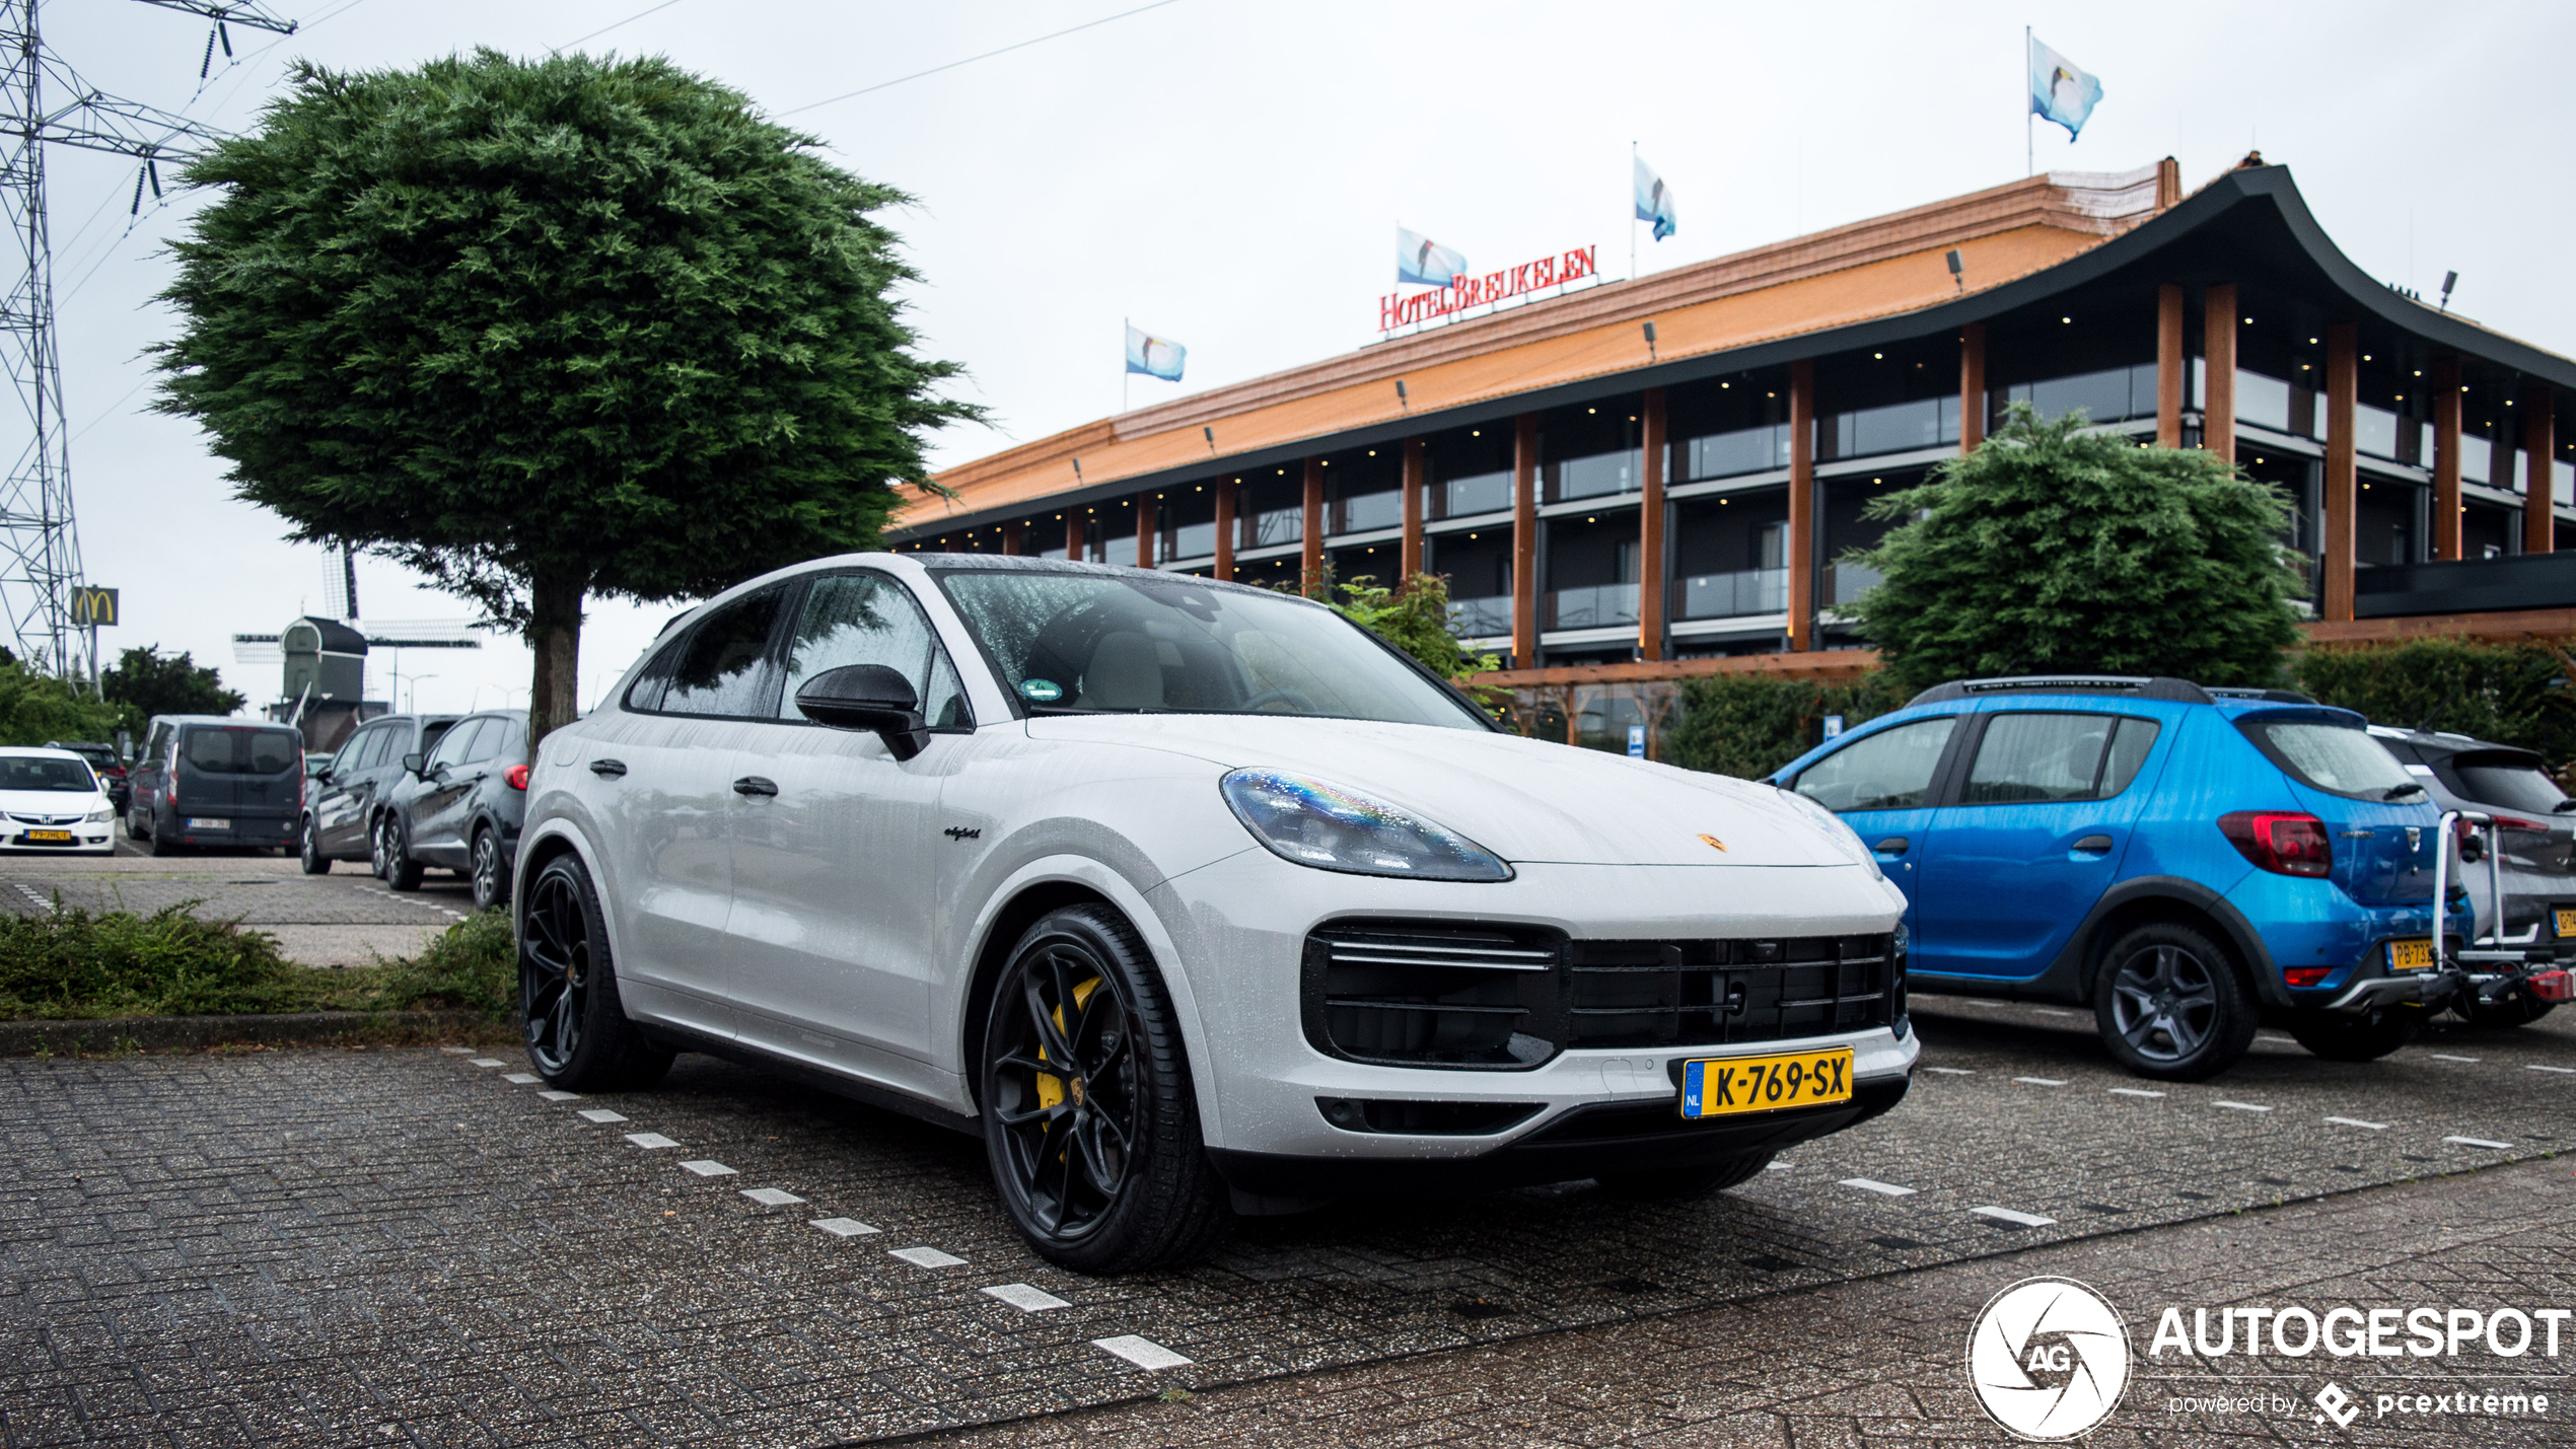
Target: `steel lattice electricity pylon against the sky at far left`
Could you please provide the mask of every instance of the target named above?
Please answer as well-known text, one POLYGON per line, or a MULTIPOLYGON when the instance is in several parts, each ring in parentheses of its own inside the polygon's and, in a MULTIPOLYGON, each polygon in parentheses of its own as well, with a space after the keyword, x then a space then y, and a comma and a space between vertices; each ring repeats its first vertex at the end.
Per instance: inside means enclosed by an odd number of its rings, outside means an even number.
MULTIPOLYGON (((232 54, 229 26, 294 33, 294 21, 263 5, 222 0, 142 0, 211 21, 214 44, 232 54)), ((0 427, 0 625, 18 659, 64 677, 93 674, 72 656, 72 589, 80 535, 72 530, 72 448, 62 417, 62 347, 54 327, 54 239, 46 229, 44 149, 80 147, 134 157, 134 208, 144 185, 160 196, 160 162, 180 162, 224 134, 173 111, 118 100, 80 80, 36 33, 36 0, 0 0, 0 224, 8 226, 13 283, 0 293, 0 371, 18 417, 0 427), (8 438, 15 432, 15 438, 8 438)), ((5 273, 0 273, 5 275, 5 273)))

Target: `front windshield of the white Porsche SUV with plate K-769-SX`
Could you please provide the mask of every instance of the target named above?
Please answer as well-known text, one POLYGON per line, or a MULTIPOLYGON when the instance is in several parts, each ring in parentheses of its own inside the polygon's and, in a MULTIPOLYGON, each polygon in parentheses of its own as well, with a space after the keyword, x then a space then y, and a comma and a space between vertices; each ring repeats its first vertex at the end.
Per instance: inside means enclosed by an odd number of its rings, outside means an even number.
POLYGON ((1489 728, 1360 625, 1190 577, 940 571, 1030 713, 1319 715, 1489 728))

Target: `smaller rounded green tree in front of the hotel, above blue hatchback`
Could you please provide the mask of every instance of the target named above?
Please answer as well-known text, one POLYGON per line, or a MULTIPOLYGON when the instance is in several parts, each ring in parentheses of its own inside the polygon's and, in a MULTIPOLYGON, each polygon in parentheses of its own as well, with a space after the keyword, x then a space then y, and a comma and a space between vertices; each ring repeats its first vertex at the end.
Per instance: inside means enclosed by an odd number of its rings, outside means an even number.
POLYGON ((2298 641, 2282 499, 2215 453, 2084 432, 2081 412, 2014 404, 1868 517, 1909 520, 1857 556, 1886 582, 1855 605, 1906 690, 2058 669, 2277 685, 2298 641))

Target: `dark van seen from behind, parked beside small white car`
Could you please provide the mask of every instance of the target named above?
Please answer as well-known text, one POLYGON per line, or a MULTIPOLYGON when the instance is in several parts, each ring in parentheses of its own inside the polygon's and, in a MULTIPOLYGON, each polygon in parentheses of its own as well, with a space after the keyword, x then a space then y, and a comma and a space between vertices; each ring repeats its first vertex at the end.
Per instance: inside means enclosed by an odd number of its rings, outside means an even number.
POLYGON ((152 715, 134 759, 126 834, 152 854, 196 847, 294 849, 304 731, 224 715, 152 715))

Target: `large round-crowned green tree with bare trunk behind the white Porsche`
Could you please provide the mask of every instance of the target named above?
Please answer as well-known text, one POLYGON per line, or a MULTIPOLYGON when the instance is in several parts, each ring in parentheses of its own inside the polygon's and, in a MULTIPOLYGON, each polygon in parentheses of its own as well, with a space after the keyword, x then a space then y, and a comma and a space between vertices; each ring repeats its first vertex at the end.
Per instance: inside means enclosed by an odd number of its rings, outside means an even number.
POLYGON ((157 407, 301 540, 410 564, 574 715, 582 602, 873 546, 933 396, 873 211, 907 201, 667 59, 299 67, 188 167, 157 407))

